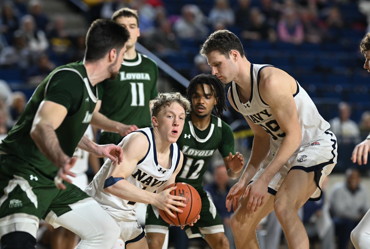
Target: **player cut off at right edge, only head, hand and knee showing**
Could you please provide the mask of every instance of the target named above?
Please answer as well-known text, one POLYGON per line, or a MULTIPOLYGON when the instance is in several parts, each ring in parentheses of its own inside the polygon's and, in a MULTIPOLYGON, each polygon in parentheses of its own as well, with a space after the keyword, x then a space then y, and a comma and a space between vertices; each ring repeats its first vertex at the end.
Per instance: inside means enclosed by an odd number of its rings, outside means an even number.
MULTIPOLYGON (((365 56, 364 68, 370 72, 370 33, 367 33, 360 43, 360 51, 365 56)), ((367 154, 370 149, 370 134, 357 144, 352 152, 352 162, 359 165, 367 164, 367 154)), ((370 248, 370 210, 366 212, 360 223, 351 232, 351 241, 356 249, 370 248)))

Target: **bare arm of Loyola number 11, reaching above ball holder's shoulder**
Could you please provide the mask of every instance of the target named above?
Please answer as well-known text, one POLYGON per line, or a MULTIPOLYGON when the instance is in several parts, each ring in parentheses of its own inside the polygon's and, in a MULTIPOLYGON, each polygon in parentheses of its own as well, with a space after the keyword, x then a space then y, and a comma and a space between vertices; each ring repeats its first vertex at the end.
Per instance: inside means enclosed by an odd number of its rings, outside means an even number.
POLYGON ((108 132, 118 132, 121 136, 126 136, 128 133, 139 129, 136 125, 125 125, 120 122, 108 119, 99 112, 101 107, 101 100, 98 100, 94 109, 94 115, 90 124, 108 132))

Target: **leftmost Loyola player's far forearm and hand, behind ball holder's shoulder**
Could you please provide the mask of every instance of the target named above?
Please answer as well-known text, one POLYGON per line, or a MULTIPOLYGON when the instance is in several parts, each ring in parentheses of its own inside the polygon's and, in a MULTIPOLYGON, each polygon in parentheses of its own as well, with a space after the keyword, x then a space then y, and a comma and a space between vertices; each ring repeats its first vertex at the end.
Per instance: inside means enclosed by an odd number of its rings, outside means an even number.
POLYGON ((115 144, 99 145, 83 136, 77 147, 96 157, 108 157, 113 162, 118 160, 118 163, 121 163, 123 160, 122 147, 115 144))

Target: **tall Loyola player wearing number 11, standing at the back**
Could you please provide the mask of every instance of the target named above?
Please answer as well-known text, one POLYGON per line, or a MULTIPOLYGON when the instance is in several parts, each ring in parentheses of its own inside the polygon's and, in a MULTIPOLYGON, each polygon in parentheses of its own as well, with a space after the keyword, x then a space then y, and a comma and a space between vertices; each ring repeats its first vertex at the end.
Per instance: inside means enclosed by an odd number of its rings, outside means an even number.
MULTIPOLYGON (((112 20, 125 26, 130 33, 120 73, 114 80, 100 85, 100 112, 111 120, 129 124, 125 134, 102 130, 99 144, 114 143, 138 128, 150 127, 150 100, 157 97, 158 67, 152 59, 135 50, 140 36, 139 17, 136 10, 121 8, 112 20), (122 136, 121 136, 122 135, 122 136)), ((104 161, 102 162, 104 163, 104 161)))

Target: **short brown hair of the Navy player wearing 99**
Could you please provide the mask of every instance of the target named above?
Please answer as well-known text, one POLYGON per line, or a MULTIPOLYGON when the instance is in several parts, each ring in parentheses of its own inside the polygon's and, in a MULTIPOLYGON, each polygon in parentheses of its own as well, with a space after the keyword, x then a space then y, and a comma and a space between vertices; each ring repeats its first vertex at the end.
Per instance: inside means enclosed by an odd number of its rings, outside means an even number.
POLYGON ((230 58, 231 50, 236 50, 243 57, 244 50, 239 38, 229 30, 217 30, 213 32, 203 43, 199 53, 206 57, 213 51, 219 51, 226 58, 230 58))

